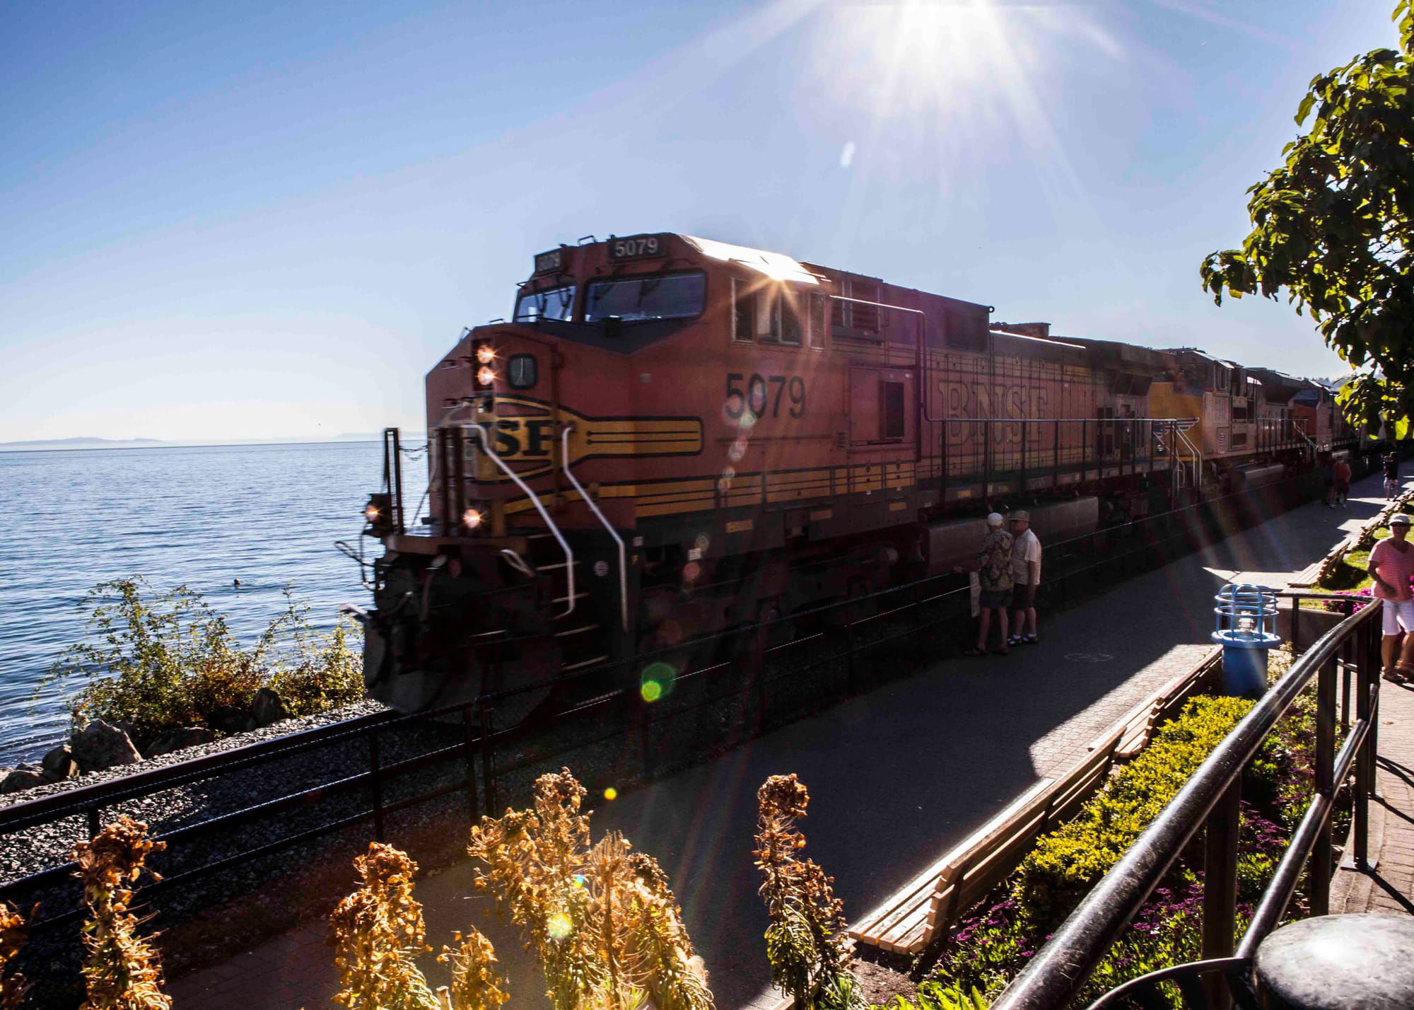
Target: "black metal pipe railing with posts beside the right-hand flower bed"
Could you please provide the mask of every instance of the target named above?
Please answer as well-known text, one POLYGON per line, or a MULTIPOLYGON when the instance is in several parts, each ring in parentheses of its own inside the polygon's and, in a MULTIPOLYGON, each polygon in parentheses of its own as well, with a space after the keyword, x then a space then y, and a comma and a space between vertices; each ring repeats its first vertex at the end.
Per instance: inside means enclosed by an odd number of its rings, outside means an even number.
MULTIPOLYGON (((1288 593, 1294 624, 1302 598, 1288 593)), ((1346 597, 1349 600, 1349 597, 1346 597)), ((1352 601, 1353 603, 1353 601, 1352 601)), ((1155 1003, 1155 987, 1179 989, 1184 1006, 1244 1010, 1258 1007, 1251 965, 1261 941, 1281 922, 1305 874, 1312 915, 1329 908, 1332 877, 1331 815, 1336 792, 1352 771, 1353 860, 1367 861, 1369 799, 1374 788, 1379 726, 1379 607, 1363 607, 1329 629, 1301 655, 1199 767, 1118 863, 1090 890, 1051 941, 1007 987, 993 1010, 1059 1010, 1070 1006, 1150 893, 1164 880, 1184 847, 1203 829, 1202 960, 1165 968, 1106 993, 1092 1010, 1134 1000, 1155 1003), (1338 712, 1338 671, 1346 676, 1343 712, 1338 712), (1355 679, 1355 719, 1349 678, 1355 679), (1267 734, 1315 680, 1316 741, 1314 795, 1263 893, 1251 921, 1236 941, 1237 830, 1241 774, 1267 734), (1336 726, 1345 727, 1336 753, 1336 726)))

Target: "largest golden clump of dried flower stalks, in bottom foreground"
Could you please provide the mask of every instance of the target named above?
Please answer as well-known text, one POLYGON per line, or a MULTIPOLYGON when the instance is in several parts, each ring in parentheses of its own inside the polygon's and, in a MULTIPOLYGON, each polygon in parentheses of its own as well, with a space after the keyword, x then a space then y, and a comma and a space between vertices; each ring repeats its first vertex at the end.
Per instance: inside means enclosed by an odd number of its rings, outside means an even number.
POLYGON ((556 1010, 710 1010, 701 958, 658 863, 611 832, 590 846, 585 791, 568 768, 542 775, 534 808, 482 818, 467 852, 477 888, 520 927, 556 1010))

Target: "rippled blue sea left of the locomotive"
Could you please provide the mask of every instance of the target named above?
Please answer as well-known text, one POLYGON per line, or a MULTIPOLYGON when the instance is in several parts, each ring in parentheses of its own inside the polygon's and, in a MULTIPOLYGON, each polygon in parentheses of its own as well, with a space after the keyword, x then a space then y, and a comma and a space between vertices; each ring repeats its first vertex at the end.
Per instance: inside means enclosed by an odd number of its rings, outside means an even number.
MULTIPOLYGON (((380 477, 382 447, 365 441, 0 453, 0 765, 64 737, 72 686, 31 699, 83 638, 78 603, 96 583, 185 583, 245 642, 283 611, 286 584, 320 628, 341 603, 368 605, 358 564, 334 542, 356 547, 380 477)), ((365 545, 372 556, 378 545, 365 545)))

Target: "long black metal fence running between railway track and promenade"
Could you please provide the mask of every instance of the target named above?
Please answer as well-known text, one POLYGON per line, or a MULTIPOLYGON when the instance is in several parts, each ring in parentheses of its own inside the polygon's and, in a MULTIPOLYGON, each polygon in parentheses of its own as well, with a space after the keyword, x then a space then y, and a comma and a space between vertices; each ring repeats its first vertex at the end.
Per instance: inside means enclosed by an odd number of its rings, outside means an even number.
MULTIPOLYGON (((1260 495, 1227 495, 1048 543, 1042 603, 1059 610, 1315 494, 1318 481, 1298 478, 1261 488, 1260 495)), ((293 850, 310 853, 307 861, 327 860, 329 846, 352 856, 369 837, 399 835, 400 819, 424 809, 474 822, 481 812, 501 809, 503 795, 525 802, 539 774, 566 762, 587 770, 581 778, 591 788, 612 784, 622 789, 660 778, 909 675, 908 659, 923 662, 946 654, 943 642, 954 635, 960 639, 969 622, 969 593, 957 576, 921 579, 653 654, 559 673, 469 704, 419 716, 376 713, 18 802, 0 808, 0 833, 68 822, 66 830, 78 840, 96 833, 105 819, 164 791, 199 791, 211 779, 249 772, 252 788, 262 791, 243 805, 170 830, 157 828, 168 849, 151 863, 164 878, 141 888, 147 902, 178 890, 184 895, 201 888, 221 894, 232 887, 230 873, 263 866, 260 860, 293 850), (773 638, 789 641, 773 645, 773 638), (641 678, 655 663, 672 668, 672 683, 649 702, 641 693, 641 678), (499 713, 546 690, 584 700, 549 717, 498 724, 499 713), (404 740, 407 734, 423 737, 414 747, 404 740), (298 788, 283 785, 288 760, 310 754, 320 755, 321 777, 298 788)), ((486 652, 491 662, 508 662, 513 648, 515 641, 506 639, 486 652)), ((35 897, 44 898, 31 934, 74 924, 76 884, 71 874, 68 863, 37 867, 0 884, 0 900, 28 908, 35 897)), ((201 904, 197 897, 184 901, 201 904)))

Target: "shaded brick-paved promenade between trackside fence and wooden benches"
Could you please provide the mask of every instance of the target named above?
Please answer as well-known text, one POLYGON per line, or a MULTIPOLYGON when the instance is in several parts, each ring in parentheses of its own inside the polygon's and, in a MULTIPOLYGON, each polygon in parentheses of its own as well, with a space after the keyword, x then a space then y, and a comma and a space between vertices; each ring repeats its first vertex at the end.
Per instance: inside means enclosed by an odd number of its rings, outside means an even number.
MULTIPOLYGON (((858 918, 1017 794, 1069 768, 1090 740, 1186 671, 1209 648, 1219 586, 1285 586, 1383 504, 1379 475, 1352 491, 1349 509, 1321 504, 1294 509, 1060 614, 1042 615, 1039 646, 1019 646, 1010 656, 939 658, 911 678, 752 740, 711 764, 614 802, 601 799, 594 803, 594 835, 619 829, 662 863, 721 1010, 769 1007, 775 996, 762 942, 766 918, 751 857, 755 791, 768 775, 796 772, 809 786, 806 853, 834 876, 846 915, 858 918)), ((1372 852, 1380 852, 1381 861, 1373 877, 1340 874, 1352 878, 1339 891, 1348 894, 1346 911, 1411 911, 1414 690, 1393 689, 1386 699, 1383 849, 1372 836, 1372 852)), ((351 869, 351 887, 352 880, 351 869)), ((475 924, 496 946, 513 1006, 549 1006, 539 968, 491 915, 489 900, 475 894, 469 866, 423 877, 417 897, 431 945, 440 948, 454 929, 475 924)), ((337 976, 324 945, 327 912, 311 910, 305 927, 173 982, 175 1006, 328 1006, 337 976)), ((431 955, 424 969, 434 985, 445 985, 431 955)))

